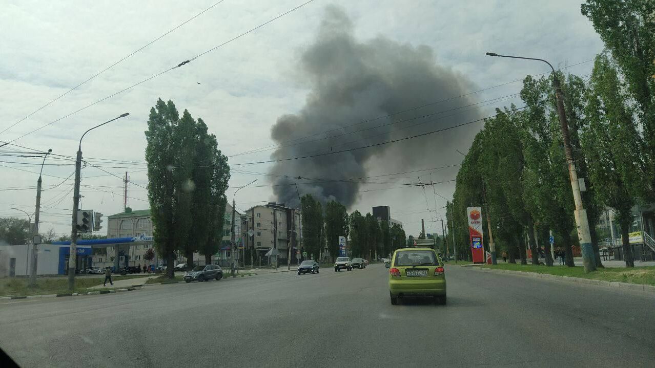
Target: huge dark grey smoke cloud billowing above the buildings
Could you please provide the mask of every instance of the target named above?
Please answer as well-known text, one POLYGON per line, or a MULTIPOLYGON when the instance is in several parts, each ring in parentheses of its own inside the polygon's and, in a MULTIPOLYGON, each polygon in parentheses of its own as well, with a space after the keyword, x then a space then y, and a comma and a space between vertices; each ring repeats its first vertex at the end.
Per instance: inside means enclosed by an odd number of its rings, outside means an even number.
MULTIPOLYGON (((464 76, 437 65, 432 48, 400 44, 384 37, 360 42, 353 28, 341 8, 326 8, 315 41, 301 53, 294 69, 309 84, 307 102, 297 114, 280 116, 272 127, 273 141, 282 145, 272 153, 272 159, 360 147, 479 118, 475 107, 457 109, 472 102, 467 97, 452 97, 472 91, 473 86, 464 76), (445 99, 451 100, 435 103, 445 99), (430 103, 434 104, 413 109, 430 103), (396 114, 404 110, 409 111, 396 114), (436 118, 440 120, 430 122, 436 118), (376 127, 379 125, 386 126, 376 127), (375 128, 367 129, 371 127, 375 128)), ((285 185, 297 182, 300 195, 310 193, 324 203, 336 199, 350 208, 366 184, 327 180, 438 167, 453 163, 455 158, 458 163, 461 156, 452 156, 450 162, 447 158, 455 148, 466 150, 472 133, 466 128, 457 129, 460 131, 439 137, 437 133, 351 152, 278 161, 270 173, 303 179, 275 178, 273 184, 282 185, 274 186, 274 194, 278 201, 297 206, 295 186, 285 185)))

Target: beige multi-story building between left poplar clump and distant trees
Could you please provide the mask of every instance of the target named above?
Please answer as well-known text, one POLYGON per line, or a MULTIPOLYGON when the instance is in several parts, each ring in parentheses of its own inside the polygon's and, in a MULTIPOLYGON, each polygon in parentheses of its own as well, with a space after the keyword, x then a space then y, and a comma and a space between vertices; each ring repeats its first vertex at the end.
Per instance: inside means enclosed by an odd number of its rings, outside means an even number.
MULTIPOLYGON (((242 216, 242 239, 254 265, 260 260, 262 264, 269 264, 271 259, 265 255, 271 248, 280 252, 278 264, 286 265, 289 252, 291 263, 295 263, 302 244, 301 214, 284 203, 269 202, 252 207, 242 216), (248 231, 252 231, 252 236, 248 236, 248 231)), ((250 261, 246 259, 247 263, 250 261)))

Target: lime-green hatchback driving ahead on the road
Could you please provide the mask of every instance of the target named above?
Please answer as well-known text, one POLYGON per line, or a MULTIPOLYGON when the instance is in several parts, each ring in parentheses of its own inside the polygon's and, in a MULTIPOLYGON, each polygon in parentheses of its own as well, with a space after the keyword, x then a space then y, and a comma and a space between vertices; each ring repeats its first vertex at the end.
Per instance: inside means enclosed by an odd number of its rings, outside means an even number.
POLYGON ((399 297, 434 297, 435 303, 446 303, 446 276, 434 249, 398 249, 385 267, 391 304, 398 304, 399 297))

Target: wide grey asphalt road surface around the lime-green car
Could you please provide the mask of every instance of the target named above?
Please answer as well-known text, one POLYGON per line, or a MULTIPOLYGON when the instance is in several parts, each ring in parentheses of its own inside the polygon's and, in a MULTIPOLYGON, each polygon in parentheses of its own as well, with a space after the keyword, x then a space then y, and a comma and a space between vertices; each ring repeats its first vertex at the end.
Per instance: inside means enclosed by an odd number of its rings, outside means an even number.
POLYGON ((387 269, 0 302, 24 367, 654 365, 655 295, 447 266, 448 305, 392 306, 387 269))

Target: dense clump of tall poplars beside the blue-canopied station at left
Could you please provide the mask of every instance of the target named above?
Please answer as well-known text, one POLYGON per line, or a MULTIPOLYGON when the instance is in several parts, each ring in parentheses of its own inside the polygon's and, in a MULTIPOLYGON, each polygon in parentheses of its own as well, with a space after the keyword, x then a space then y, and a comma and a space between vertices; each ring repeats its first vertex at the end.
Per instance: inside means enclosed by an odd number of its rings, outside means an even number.
POLYGON ((223 218, 230 169, 207 125, 172 101, 158 99, 145 131, 148 199, 157 252, 173 276, 175 252, 193 265, 199 252, 211 263, 223 237, 223 218))

